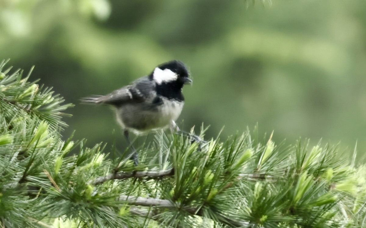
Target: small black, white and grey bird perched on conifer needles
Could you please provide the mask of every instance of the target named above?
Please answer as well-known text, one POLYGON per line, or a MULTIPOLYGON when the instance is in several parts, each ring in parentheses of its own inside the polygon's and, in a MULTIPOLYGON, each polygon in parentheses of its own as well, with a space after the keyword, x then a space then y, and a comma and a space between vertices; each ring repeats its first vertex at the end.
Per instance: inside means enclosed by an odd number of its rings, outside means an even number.
MULTIPOLYGON (((187 67, 179 60, 162 63, 147 76, 133 81, 113 92, 100 96, 91 95, 81 98, 82 103, 106 104, 115 109, 117 123, 130 144, 132 160, 138 165, 138 155, 129 139, 129 132, 137 135, 164 128, 175 132, 181 131, 175 121, 180 116, 184 105, 182 88, 192 84, 187 67)), ((194 140, 201 140, 193 136, 194 140)))

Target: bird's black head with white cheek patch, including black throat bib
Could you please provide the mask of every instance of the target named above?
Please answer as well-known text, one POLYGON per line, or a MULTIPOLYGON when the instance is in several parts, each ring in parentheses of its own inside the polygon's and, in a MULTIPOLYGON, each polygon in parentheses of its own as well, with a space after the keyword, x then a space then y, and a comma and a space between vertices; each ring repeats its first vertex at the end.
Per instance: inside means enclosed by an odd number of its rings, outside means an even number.
POLYGON ((192 83, 188 76, 186 66, 178 60, 173 60, 155 67, 149 77, 150 80, 156 82, 156 93, 158 95, 183 101, 183 85, 192 83))

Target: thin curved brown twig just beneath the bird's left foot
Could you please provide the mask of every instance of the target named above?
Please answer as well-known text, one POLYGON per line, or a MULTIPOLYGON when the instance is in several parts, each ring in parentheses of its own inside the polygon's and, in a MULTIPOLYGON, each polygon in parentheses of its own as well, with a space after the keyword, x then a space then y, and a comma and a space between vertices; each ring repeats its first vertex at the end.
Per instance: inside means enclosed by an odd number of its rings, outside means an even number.
POLYGON ((165 176, 172 176, 174 174, 173 169, 168 169, 164 171, 134 171, 134 172, 119 172, 116 174, 109 174, 104 177, 98 177, 93 181, 89 181, 91 185, 99 185, 106 181, 114 180, 114 179, 127 179, 131 177, 149 177, 149 178, 161 178, 165 176))

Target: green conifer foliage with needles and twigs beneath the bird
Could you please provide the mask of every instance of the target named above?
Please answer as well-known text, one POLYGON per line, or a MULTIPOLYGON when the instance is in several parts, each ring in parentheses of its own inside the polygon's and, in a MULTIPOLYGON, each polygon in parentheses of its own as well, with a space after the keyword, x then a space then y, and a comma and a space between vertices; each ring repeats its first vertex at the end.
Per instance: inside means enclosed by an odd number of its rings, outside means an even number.
POLYGON ((335 147, 166 132, 134 167, 63 141, 72 105, 28 79, 1 62, 0 227, 366 227, 366 168, 335 147))

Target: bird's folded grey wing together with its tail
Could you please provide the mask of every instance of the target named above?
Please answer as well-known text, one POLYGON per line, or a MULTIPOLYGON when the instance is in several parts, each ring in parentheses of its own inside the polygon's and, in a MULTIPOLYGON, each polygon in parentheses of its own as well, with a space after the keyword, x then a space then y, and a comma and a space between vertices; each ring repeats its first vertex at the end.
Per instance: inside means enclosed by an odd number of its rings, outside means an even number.
POLYGON ((98 103, 123 105, 128 103, 140 103, 155 92, 155 83, 148 77, 142 77, 134 81, 132 85, 117 89, 105 96, 91 96, 82 98, 83 103, 98 103))

